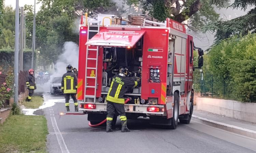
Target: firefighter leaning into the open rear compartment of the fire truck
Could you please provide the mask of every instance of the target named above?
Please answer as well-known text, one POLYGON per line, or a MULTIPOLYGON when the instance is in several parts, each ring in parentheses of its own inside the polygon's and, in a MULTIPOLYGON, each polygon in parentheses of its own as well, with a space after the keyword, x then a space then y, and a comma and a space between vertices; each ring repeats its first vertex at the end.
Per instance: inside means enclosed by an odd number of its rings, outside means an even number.
POLYGON ((125 108, 124 108, 124 104, 125 104, 124 95, 128 87, 134 88, 138 85, 138 82, 132 81, 129 77, 127 77, 128 73, 129 72, 127 67, 120 68, 119 74, 115 75, 112 78, 110 89, 106 97, 106 101, 108 102, 106 132, 113 131, 111 129, 111 123, 115 115, 115 111, 120 115, 120 120, 122 122, 122 132, 130 132, 130 130, 127 128, 127 119, 126 119, 125 108))

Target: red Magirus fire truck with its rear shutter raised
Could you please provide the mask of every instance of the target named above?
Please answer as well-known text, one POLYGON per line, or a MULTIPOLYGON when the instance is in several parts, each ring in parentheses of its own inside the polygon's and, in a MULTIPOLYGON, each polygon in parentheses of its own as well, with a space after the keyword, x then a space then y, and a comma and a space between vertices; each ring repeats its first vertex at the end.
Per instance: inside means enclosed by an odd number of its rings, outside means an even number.
MULTIPOLYGON (((151 124, 170 129, 176 129, 178 119, 189 124, 194 98, 193 37, 183 24, 169 18, 164 23, 144 20, 143 26, 116 25, 114 18, 82 16, 77 90, 80 111, 88 114, 91 124, 104 120, 111 78, 119 67, 128 67, 129 77, 141 78, 141 86, 125 94, 130 99, 124 105, 128 119, 149 117, 151 124), (145 26, 149 24, 152 26, 145 26)), ((203 51, 198 53, 202 58, 203 51)))

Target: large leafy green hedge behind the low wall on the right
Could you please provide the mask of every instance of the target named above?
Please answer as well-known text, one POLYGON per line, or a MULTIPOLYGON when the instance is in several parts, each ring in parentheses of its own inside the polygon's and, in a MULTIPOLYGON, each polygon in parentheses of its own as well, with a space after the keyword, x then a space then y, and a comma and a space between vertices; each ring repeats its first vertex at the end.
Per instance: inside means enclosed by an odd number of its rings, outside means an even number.
POLYGON ((204 78, 207 82, 207 79, 210 80, 207 75, 213 75, 215 95, 224 97, 225 92, 227 99, 256 102, 255 42, 256 34, 233 36, 213 46, 204 55, 207 59, 204 63, 207 74, 204 74, 204 78))

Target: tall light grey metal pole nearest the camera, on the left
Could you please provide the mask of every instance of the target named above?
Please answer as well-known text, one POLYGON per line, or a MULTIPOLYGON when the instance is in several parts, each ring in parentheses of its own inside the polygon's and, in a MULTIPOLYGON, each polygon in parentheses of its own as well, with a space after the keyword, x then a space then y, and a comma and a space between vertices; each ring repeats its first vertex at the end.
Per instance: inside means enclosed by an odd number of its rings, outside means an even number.
POLYGON ((16 0, 15 8, 15 53, 14 53, 14 102, 18 104, 19 90, 19 0, 16 0))

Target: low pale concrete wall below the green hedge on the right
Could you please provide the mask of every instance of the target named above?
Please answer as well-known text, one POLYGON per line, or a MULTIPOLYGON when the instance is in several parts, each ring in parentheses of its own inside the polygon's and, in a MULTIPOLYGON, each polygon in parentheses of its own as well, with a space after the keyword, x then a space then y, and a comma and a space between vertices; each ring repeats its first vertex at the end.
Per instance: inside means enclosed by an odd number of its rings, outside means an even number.
POLYGON ((256 103, 197 97, 197 109, 256 123, 256 103))

